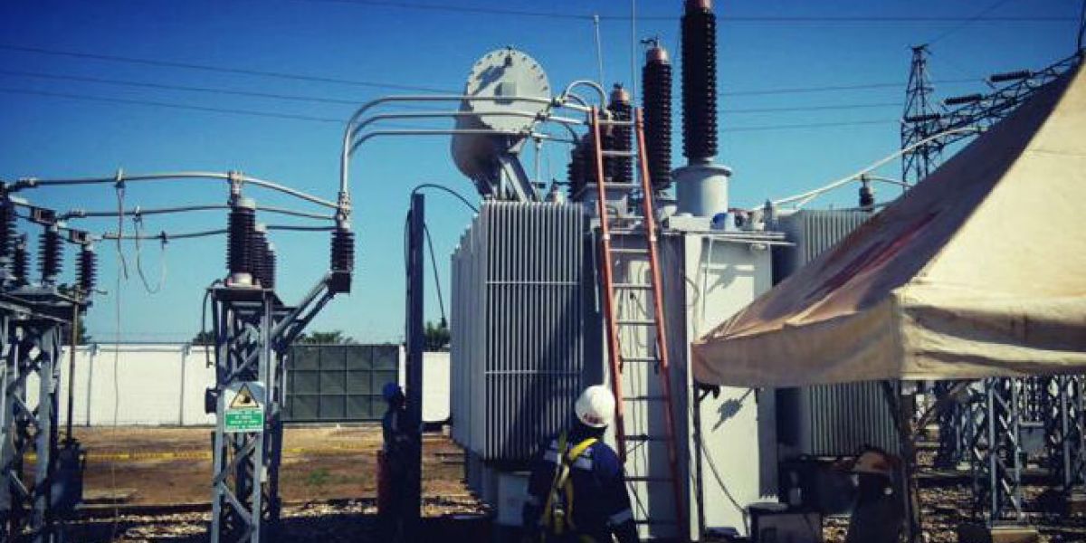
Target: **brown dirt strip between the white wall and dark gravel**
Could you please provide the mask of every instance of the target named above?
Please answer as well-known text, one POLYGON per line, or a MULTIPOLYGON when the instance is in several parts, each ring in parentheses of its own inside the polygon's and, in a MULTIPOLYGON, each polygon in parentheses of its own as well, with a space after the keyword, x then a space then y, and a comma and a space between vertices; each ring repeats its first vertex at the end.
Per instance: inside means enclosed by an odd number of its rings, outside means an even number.
MULTIPOLYGON (((280 494, 285 502, 374 497, 378 426, 287 428, 280 494)), ((211 429, 77 429, 88 452, 89 503, 176 505, 211 500, 211 429), (173 457, 171 457, 173 455, 173 457)), ((460 450, 440 434, 424 441, 422 491, 467 496, 460 450)))

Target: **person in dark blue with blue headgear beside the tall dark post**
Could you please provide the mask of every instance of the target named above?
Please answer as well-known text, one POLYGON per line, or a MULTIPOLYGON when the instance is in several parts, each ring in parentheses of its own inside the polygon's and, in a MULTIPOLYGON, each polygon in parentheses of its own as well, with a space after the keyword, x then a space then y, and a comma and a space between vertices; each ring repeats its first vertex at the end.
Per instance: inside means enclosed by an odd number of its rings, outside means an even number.
POLYGON ((387 482, 384 491, 390 495, 383 500, 384 508, 379 508, 378 532, 386 541, 401 541, 404 515, 407 510, 405 502, 404 485, 411 476, 408 466, 411 447, 414 439, 408 431, 407 425, 407 399, 403 390, 394 382, 384 384, 381 389, 381 396, 389 404, 381 419, 381 431, 384 438, 383 445, 383 477, 387 482))

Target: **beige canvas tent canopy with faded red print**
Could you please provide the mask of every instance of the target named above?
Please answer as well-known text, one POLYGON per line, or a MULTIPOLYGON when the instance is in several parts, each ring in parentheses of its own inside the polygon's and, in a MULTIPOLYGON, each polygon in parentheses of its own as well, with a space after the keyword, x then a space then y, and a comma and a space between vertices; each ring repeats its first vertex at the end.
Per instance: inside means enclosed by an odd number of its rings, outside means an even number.
POLYGON ((705 383, 1086 371, 1086 71, 693 345, 705 383))

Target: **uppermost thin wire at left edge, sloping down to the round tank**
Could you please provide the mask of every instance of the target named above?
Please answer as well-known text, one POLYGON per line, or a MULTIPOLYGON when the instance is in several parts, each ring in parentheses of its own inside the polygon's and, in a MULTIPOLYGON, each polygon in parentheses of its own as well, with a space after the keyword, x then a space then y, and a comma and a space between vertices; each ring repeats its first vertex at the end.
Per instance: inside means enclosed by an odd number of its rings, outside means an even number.
POLYGON ((203 72, 217 72, 224 74, 253 75, 261 77, 274 77, 279 79, 292 79, 314 83, 331 83, 337 85, 353 85, 357 87, 369 87, 377 89, 411 90, 418 92, 449 93, 449 89, 438 89, 433 87, 421 87, 417 85, 401 85, 394 83, 371 81, 361 79, 344 79, 339 77, 326 77, 310 74, 296 74, 288 72, 269 72, 264 70, 252 70, 233 66, 214 66, 211 64, 197 64, 190 62, 166 61, 160 59, 141 59, 136 56, 122 56, 116 54, 88 53, 80 51, 65 51, 60 49, 46 49, 40 47, 16 46, 11 43, 0 43, 0 49, 8 51, 20 51, 24 53, 49 54, 54 56, 71 56, 74 59, 91 59, 106 62, 119 62, 125 64, 139 64, 144 66, 173 67, 184 70, 199 70, 203 72))

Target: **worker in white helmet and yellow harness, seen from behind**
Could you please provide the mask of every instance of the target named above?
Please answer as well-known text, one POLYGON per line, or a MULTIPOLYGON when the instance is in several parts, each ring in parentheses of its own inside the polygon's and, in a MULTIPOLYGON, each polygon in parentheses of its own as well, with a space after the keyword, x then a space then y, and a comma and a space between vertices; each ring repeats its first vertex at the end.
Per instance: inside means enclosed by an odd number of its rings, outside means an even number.
POLYGON ((577 400, 571 428, 545 443, 528 481, 526 541, 619 543, 637 541, 622 464, 603 442, 615 396, 589 387, 577 400))

